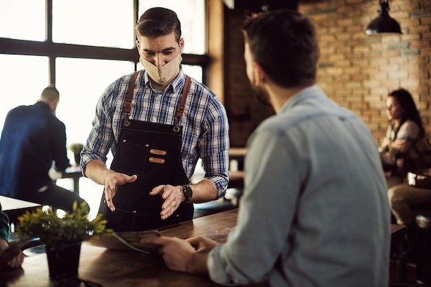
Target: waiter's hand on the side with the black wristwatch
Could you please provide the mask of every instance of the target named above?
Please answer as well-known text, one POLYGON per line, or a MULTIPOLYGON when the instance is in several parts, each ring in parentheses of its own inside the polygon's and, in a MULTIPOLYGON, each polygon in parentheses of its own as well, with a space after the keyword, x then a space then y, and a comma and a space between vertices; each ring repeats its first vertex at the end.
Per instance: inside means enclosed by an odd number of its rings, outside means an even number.
POLYGON ((160 212, 160 217, 162 220, 165 220, 178 209, 178 206, 180 206, 184 198, 182 186, 178 185, 173 187, 169 184, 159 185, 158 187, 154 187, 154 189, 149 193, 149 195, 158 194, 160 194, 165 200, 165 202, 162 204, 162 211, 160 212))

